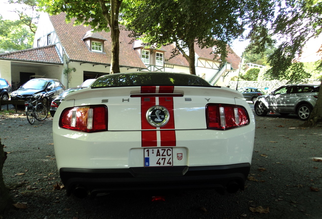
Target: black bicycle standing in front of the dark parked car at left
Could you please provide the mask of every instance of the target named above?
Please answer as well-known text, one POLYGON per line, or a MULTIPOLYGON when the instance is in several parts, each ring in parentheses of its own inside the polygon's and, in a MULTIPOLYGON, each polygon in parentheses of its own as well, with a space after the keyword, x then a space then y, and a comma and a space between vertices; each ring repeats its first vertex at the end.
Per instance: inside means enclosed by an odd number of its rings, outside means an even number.
POLYGON ((32 95, 29 100, 25 102, 25 112, 27 120, 30 124, 34 120, 44 121, 48 116, 48 108, 42 102, 43 95, 32 95))

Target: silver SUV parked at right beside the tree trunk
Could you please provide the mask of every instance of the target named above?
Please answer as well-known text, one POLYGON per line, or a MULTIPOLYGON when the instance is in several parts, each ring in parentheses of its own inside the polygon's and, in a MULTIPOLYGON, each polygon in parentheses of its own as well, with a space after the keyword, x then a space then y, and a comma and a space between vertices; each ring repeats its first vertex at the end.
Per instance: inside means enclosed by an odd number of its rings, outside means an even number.
POLYGON ((320 85, 285 85, 268 95, 255 100, 257 116, 266 116, 268 112, 281 115, 297 114, 300 120, 307 120, 316 103, 320 85))

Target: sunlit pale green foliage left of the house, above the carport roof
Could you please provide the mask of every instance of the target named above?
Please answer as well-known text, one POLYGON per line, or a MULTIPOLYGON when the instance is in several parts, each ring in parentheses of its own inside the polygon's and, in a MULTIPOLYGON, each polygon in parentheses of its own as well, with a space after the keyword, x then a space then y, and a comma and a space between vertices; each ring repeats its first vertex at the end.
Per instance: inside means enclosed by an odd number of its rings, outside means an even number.
POLYGON ((0 53, 31 48, 33 36, 20 21, 3 20, 0 16, 0 53))

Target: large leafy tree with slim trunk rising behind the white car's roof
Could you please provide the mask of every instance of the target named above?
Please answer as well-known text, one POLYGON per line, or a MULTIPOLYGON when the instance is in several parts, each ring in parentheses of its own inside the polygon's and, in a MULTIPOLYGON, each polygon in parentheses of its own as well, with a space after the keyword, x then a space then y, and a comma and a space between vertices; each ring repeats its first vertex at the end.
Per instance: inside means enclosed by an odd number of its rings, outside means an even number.
POLYGON ((270 0, 134 0, 123 18, 149 46, 175 43, 174 55, 180 51, 189 62, 190 74, 195 74, 195 43, 201 48, 213 47, 223 61, 227 44, 241 36, 246 27, 251 28, 247 38, 258 48, 271 44, 268 23, 274 7, 275 2, 270 0))

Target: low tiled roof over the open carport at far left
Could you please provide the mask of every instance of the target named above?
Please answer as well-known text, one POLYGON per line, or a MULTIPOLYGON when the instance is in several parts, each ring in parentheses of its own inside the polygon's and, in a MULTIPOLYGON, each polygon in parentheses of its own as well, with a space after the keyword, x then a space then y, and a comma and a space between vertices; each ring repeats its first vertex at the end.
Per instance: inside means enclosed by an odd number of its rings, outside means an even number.
POLYGON ((0 54, 0 59, 63 64, 55 45, 0 54))

